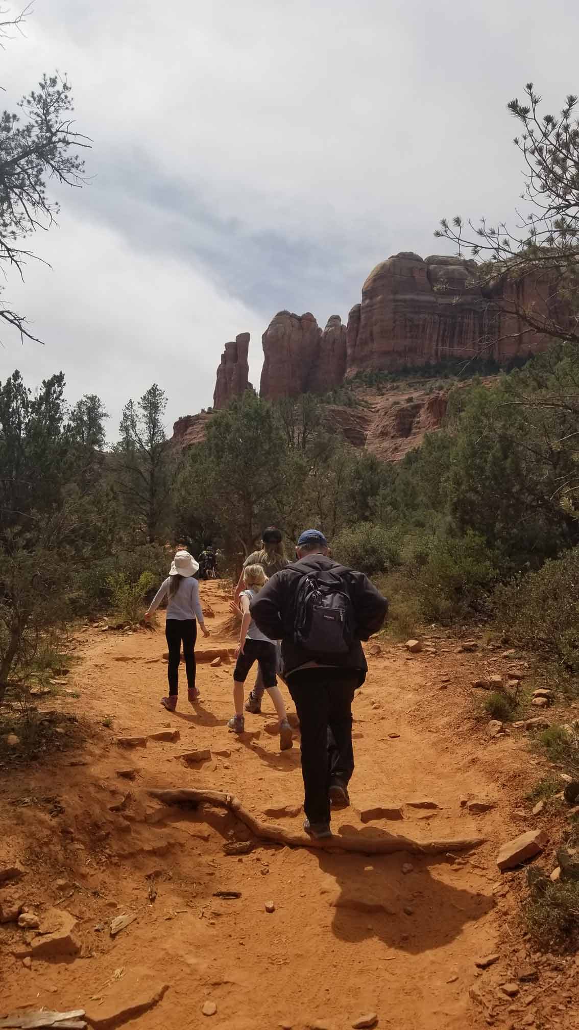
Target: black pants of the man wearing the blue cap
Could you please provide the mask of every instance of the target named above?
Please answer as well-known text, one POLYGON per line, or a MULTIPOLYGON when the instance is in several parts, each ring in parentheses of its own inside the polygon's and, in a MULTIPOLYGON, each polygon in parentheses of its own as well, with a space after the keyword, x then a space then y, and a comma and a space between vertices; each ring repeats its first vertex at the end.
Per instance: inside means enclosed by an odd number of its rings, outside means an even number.
POLYGON ((287 677, 300 719, 304 811, 310 823, 330 822, 330 785, 353 772, 351 702, 359 685, 350 670, 304 668, 287 677))

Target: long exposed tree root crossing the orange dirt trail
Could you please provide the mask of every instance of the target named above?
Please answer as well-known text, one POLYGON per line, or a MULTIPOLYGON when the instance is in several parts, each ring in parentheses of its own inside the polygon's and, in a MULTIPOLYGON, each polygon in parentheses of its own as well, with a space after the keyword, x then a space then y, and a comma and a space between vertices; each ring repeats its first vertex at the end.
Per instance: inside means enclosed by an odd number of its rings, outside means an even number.
POLYGON ((322 848, 325 851, 338 848, 340 851, 359 852, 363 855, 391 855, 397 851, 407 851, 413 855, 439 855, 444 852, 470 851, 484 843, 483 837, 458 837, 455 840, 412 840, 411 837, 399 836, 396 833, 380 831, 380 836, 365 836, 363 832, 356 836, 334 836, 326 840, 314 840, 306 833, 292 833, 282 826, 271 826, 262 822, 244 809, 241 801, 232 794, 224 794, 217 790, 149 790, 150 797, 156 797, 164 804, 184 804, 198 808, 200 804, 212 804, 217 809, 228 809, 257 836, 265 840, 276 840, 291 848, 322 848))

